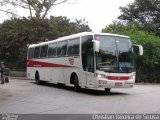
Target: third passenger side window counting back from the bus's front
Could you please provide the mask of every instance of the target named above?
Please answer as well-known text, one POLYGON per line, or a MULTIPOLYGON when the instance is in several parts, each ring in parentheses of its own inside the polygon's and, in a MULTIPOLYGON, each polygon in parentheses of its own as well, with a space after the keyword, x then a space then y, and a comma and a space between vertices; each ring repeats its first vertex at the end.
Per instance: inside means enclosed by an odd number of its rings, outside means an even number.
POLYGON ((57 43, 49 44, 48 57, 55 57, 57 52, 57 43))

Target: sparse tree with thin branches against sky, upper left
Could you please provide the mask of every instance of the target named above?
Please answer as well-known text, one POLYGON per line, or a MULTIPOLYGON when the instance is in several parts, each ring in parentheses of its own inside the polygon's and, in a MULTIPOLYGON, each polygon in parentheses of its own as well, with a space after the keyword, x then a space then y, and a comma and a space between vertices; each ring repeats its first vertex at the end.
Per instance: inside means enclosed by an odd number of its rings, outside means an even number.
MULTIPOLYGON (((66 1, 67 0, 3 0, 0 2, 0 6, 11 5, 13 7, 21 7, 29 10, 30 18, 33 17, 34 13, 36 18, 44 19, 48 11, 51 10, 54 5, 58 5, 66 1)), ((0 9, 0 11, 16 16, 16 13, 11 9, 0 9)))

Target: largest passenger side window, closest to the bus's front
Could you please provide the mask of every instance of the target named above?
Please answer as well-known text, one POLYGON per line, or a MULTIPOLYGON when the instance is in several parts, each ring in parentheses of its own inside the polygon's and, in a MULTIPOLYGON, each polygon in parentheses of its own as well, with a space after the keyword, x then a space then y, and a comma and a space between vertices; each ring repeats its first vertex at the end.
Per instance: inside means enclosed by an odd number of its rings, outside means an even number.
POLYGON ((79 38, 68 41, 68 55, 79 55, 79 38))

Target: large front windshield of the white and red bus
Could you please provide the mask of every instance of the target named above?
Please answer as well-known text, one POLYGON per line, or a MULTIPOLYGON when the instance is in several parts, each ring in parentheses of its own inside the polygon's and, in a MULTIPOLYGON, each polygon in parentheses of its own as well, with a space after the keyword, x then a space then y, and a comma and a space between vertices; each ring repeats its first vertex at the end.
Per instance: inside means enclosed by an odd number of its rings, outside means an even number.
POLYGON ((112 73, 134 71, 131 41, 125 37, 96 35, 100 50, 96 53, 96 70, 112 73))

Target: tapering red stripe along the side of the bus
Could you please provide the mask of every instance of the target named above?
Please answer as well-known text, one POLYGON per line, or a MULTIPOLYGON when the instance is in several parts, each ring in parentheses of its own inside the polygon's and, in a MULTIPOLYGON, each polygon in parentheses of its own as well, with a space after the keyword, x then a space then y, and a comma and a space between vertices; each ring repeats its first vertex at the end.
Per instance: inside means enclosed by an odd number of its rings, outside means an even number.
POLYGON ((75 67, 75 66, 28 60, 27 67, 75 67))

